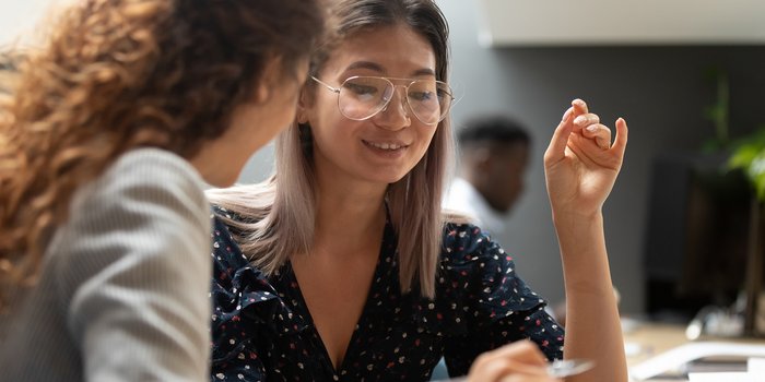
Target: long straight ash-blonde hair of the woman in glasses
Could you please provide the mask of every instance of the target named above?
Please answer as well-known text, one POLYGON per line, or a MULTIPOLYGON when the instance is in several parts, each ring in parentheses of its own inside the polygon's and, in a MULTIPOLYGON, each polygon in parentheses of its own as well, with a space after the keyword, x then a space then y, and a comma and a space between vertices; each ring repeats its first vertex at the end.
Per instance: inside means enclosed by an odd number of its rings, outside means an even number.
MULTIPOLYGON (((332 51, 361 31, 407 25, 433 47, 436 79, 447 81, 448 25, 432 0, 336 0, 329 31, 311 60, 317 75, 332 51)), ((405 52, 402 52, 405 53, 405 52)), ((305 91, 315 91, 313 82, 305 91)), ((308 253, 316 217, 315 174, 310 126, 295 123, 275 144, 275 175, 263 183, 208 192, 211 201, 235 215, 222 216, 235 228, 235 239, 264 273, 275 272, 293 254, 308 253)), ((449 118, 437 127, 425 156, 401 180, 391 183, 386 200, 398 236, 401 290, 419 286, 435 296, 445 217, 440 199, 451 164, 449 118)))

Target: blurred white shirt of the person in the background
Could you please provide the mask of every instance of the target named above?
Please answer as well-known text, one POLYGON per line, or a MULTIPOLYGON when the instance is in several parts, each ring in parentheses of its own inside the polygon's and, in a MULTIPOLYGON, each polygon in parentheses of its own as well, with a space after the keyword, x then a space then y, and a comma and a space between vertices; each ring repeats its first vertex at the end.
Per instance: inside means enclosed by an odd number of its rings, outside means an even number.
POLYGON ((492 208, 481 193, 469 181, 455 178, 446 192, 443 207, 463 213, 473 219, 482 230, 492 236, 505 230, 506 215, 492 208))

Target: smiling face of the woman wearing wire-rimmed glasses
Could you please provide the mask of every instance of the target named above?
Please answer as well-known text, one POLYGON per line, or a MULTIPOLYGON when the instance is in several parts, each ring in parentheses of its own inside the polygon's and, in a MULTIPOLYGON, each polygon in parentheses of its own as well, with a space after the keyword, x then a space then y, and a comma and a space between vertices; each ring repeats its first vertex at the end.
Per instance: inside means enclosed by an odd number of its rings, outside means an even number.
MULTIPOLYGON (((429 43, 420 33, 409 26, 391 25, 345 38, 318 76, 340 85, 360 75, 386 75, 412 79, 409 83, 427 82, 435 87, 435 60, 429 43), (401 57, 400 51, 412 53, 401 57)), ((327 179, 334 179, 334 184, 367 183, 378 190, 379 196, 387 184, 401 180, 414 168, 437 131, 434 128, 440 114, 424 123, 411 107, 410 93, 403 91, 392 87, 387 100, 385 93, 378 93, 378 105, 385 107, 361 121, 349 119, 338 107, 346 104, 344 98, 338 102, 344 95, 342 91, 334 95, 314 86, 311 92, 303 93, 298 121, 310 126, 314 166, 322 174, 319 179, 326 175, 327 179), (390 150, 391 146, 397 148, 390 150), (370 168, 375 170, 369 171, 370 168)))

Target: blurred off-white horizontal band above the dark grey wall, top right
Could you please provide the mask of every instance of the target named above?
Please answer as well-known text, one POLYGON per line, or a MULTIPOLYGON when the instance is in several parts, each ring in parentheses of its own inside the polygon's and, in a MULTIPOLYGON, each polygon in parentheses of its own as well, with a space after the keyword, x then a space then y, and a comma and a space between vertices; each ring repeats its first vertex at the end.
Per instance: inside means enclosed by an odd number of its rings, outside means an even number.
POLYGON ((471 1, 490 47, 765 45, 764 0, 471 1))

